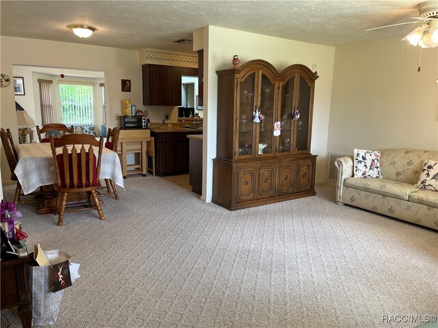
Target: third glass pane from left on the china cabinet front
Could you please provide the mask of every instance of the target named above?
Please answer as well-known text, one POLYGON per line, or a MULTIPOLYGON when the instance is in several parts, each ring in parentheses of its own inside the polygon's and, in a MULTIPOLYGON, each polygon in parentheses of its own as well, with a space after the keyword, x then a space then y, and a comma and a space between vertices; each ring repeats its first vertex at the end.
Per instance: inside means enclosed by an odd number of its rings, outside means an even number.
POLYGON ((292 109, 294 108, 295 77, 287 80, 281 88, 281 107, 279 121, 281 133, 279 135, 278 152, 291 152, 294 137, 294 124, 292 121, 292 109))

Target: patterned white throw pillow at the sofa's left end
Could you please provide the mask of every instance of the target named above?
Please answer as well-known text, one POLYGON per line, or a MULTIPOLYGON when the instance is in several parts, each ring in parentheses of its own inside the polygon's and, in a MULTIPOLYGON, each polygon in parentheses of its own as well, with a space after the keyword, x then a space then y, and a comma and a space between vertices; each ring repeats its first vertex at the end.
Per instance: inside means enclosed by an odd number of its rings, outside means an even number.
POLYGON ((355 149, 355 178, 382 178, 381 152, 355 149))

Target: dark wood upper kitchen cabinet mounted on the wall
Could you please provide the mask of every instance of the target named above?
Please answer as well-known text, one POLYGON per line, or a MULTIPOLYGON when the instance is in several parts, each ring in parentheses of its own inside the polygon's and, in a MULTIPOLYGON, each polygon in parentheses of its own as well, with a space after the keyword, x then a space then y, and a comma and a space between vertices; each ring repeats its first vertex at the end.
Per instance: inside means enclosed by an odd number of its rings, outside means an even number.
POLYGON ((181 77, 197 77, 198 68, 146 64, 142 66, 143 105, 181 105, 181 77))

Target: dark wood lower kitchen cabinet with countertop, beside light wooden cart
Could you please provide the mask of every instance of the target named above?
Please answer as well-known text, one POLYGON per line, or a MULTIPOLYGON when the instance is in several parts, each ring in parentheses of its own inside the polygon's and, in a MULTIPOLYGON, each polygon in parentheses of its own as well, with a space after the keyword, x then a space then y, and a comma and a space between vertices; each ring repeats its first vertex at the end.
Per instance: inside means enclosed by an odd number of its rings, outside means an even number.
MULTIPOLYGON (((151 137, 154 137, 155 140, 155 175, 171 176, 188 173, 190 143, 187 136, 201 135, 202 133, 202 131, 151 131, 151 137)), ((151 160, 149 159, 149 161, 151 160)))

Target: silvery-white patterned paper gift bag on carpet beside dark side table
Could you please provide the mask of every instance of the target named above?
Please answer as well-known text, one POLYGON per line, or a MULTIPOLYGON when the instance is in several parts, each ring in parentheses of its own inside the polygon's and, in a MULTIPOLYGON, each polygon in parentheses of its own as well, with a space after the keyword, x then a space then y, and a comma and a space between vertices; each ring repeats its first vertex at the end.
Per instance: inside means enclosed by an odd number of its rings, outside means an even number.
MULTIPOLYGON (((52 264, 70 260, 70 256, 62 251, 44 251, 52 264), (52 260, 58 256, 59 259, 52 260)), ((29 254, 31 259, 34 254, 29 254)), ((51 266, 26 266, 27 286, 32 291, 32 327, 54 325, 60 312, 64 290, 52 292, 51 266)))

